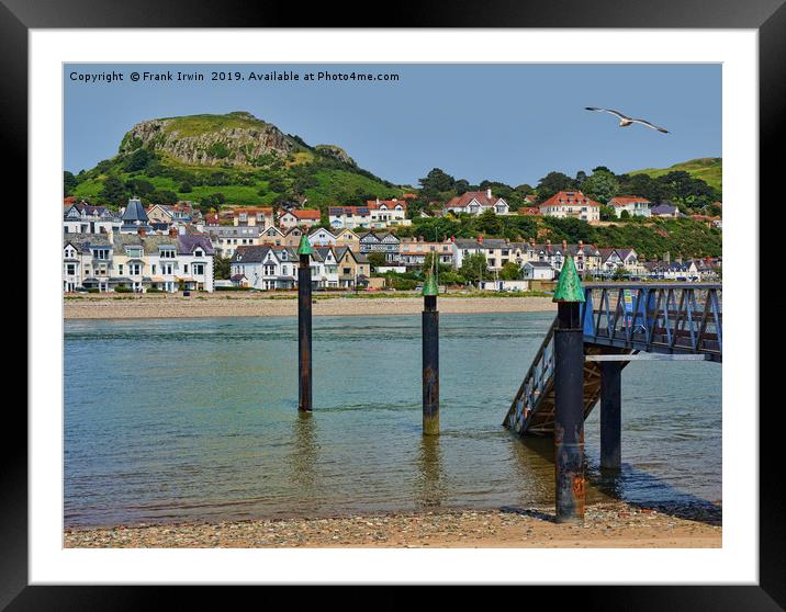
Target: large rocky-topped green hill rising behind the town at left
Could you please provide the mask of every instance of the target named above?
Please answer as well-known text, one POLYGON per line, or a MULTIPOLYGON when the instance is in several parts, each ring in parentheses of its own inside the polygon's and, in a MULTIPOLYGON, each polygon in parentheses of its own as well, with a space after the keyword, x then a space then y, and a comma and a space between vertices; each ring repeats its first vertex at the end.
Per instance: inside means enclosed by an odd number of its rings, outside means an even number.
POLYGON ((76 177, 66 195, 124 205, 190 200, 205 206, 270 205, 307 197, 306 207, 401 196, 404 188, 359 168, 335 145, 306 144, 246 112, 162 117, 134 125, 117 155, 76 177))

